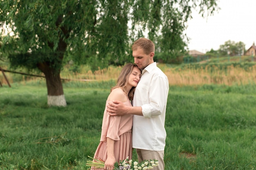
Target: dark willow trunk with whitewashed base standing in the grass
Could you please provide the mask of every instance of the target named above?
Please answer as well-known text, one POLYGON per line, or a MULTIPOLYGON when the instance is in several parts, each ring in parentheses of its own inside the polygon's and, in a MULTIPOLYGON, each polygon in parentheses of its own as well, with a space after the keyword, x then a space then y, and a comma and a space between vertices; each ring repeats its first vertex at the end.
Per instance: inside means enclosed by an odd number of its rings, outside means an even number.
POLYGON ((38 68, 45 74, 48 106, 67 106, 60 71, 41 63, 38 68))

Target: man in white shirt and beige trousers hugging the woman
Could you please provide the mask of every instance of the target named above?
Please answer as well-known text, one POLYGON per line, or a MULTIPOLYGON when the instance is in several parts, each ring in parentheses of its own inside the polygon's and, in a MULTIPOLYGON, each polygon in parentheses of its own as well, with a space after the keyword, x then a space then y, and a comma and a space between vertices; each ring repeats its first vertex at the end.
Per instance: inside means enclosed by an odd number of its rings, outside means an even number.
POLYGON ((135 90, 133 107, 113 101, 107 111, 111 116, 132 114, 132 148, 136 148, 138 161, 159 161, 154 170, 164 170, 164 128, 169 83, 166 75, 157 67, 153 57, 155 44, 139 38, 132 45, 134 62, 142 70, 141 79, 135 90))

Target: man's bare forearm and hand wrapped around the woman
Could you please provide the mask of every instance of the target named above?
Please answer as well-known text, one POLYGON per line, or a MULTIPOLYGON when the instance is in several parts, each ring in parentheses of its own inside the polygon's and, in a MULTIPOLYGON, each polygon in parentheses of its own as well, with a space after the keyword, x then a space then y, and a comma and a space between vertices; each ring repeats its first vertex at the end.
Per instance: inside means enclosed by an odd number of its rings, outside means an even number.
POLYGON ((126 106, 120 101, 108 102, 107 111, 110 116, 122 116, 126 114, 143 116, 140 106, 126 106))

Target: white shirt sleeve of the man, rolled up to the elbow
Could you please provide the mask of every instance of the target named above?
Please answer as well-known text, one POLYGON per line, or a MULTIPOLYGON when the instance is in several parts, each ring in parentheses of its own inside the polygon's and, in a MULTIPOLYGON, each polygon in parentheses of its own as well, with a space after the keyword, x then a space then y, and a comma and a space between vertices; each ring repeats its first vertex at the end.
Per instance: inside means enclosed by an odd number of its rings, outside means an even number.
POLYGON ((167 103, 168 81, 162 76, 153 76, 149 88, 149 104, 141 106, 144 117, 155 117, 161 115, 167 103))

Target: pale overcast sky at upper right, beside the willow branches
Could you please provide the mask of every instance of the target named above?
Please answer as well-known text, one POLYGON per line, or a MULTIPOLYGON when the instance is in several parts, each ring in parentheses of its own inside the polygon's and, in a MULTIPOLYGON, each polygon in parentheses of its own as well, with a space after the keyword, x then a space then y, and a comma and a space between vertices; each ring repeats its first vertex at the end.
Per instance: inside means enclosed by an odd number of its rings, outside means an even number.
POLYGON ((217 50, 228 40, 241 41, 249 49, 256 42, 256 0, 219 0, 218 6, 221 9, 208 18, 192 13, 185 31, 191 39, 189 50, 217 50))

